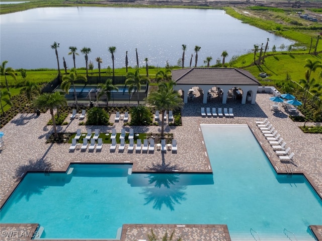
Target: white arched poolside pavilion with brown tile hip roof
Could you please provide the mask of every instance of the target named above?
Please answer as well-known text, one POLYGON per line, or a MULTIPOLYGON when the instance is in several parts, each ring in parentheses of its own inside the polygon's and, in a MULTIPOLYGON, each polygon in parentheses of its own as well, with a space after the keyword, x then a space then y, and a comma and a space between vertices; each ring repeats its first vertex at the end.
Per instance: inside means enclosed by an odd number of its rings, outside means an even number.
POLYGON ((241 104, 250 101, 256 103, 258 86, 261 84, 248 71, 239 68, 182 68, 171 71, 176 82, 174 89, 182 90, 184 103, 188 103, 188 93, 191 87, 198 86, 203 90, 203 103, 207 103, 207 91, 213 87, 222 91, 222 104, 226 104, 228 92, 234 88, 243 90, 241 104))

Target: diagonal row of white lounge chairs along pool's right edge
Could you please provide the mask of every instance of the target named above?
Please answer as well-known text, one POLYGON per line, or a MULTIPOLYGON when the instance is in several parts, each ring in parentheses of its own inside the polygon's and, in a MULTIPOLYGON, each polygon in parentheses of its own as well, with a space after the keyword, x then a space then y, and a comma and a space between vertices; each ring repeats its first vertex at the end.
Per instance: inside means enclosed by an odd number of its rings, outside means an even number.
POLYGON ((275 153, 280 160, 292 160, 294 152, 288 154, 291 150, 290 147, 285 148, 286 142, 283 140, 281 135, 277 133, 277 130, 273 125, 268 121, 268 118, 263 121, 256 121, 258 128, 262 131, 265 138, 268 140, 272 148, 275 150, 275 153))

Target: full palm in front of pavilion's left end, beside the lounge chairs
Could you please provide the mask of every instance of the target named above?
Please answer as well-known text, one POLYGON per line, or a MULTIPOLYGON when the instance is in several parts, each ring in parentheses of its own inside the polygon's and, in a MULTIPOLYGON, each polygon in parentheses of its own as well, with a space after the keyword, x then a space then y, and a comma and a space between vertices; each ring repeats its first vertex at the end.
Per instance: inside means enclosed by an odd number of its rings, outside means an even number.
POLYGON ((180 94, 178 91, 173 89, 174 85, 176 85, 176 83, 173 81, 162 82, 158 85, 158 90, 150 93, 147 97, 147 102, 162 112, 161 137, 165 136, 165 111, 170 109, 178 109, 183 106, 183 100, 180 94))

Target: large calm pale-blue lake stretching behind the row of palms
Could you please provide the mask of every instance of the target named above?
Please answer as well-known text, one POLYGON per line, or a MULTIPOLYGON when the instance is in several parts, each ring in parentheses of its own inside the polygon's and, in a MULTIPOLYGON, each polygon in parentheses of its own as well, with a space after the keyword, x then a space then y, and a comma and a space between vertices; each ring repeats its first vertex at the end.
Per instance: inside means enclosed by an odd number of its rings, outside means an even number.
MULTIPOLYGON (((112 67, 108 47, 115 46, 115 66, 125 66, 128 51, 129 65, 136 65, 135 48, 139 65, 165 66, 168 60, 175 65, 182 57, 182 44, 187 45, 185 66, 189 66, 196 45, 198 66, 204 65, 207 56, 215 64, 222 51, 228 52, 226 62, 233 55, 252 51, 254 44, 266 44, 269 48, 287 46, 293 42, 264 30, 243 24, 222 10, 201 9, 152 9, 152 8, 39 8, 0 16, 1 61, 14 68, 55 68, 55 51, 50 45, 60 43, 58 55, 67 66, 73 66, 69 46, 78 48, 76 67, 85 67, 85 58, 79 51, 89 47, 97 68, 96 57, 103 59, 102 68, 112 67)), ((193 57, 192 65, 195 63, 193 57)))

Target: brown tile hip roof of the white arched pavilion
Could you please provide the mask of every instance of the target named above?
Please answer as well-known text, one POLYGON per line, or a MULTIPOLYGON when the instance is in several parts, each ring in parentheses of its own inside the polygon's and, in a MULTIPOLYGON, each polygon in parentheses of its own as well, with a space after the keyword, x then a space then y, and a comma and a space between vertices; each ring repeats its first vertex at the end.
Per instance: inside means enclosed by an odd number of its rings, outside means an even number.
POLYGON ((182 68, 171 73, 177 85, 260 85, 250 72, 239 68, 182 68))

